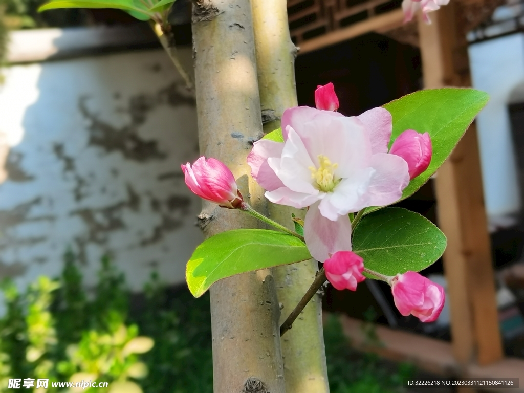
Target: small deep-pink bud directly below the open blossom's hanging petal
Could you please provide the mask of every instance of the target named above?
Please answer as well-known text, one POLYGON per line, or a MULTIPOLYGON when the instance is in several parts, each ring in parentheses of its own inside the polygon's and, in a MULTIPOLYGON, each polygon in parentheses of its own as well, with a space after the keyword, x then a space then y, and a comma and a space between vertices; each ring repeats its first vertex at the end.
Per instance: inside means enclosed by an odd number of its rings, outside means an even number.
POLYGON ((326 277, 339 291, 356 291, 357 283, 365 280, 362 275, 364 259, 352 251, 338 251, 324 262, 326 277))

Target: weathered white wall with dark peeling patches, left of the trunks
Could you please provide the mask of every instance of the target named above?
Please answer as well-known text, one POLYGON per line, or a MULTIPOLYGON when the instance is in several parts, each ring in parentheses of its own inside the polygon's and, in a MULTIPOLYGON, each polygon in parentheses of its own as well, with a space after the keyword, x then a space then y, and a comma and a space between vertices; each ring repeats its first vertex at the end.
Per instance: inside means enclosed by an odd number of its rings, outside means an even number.
MULTIPOLYGON (((191 50, 183 50, 190 61, 191 50)), ((58 275, 70 246, 88 283, 104 253, 140 289, 184 280, 200 201, 193 97, 162 50, 14 65, 0 88, 0 277, 58 275)))

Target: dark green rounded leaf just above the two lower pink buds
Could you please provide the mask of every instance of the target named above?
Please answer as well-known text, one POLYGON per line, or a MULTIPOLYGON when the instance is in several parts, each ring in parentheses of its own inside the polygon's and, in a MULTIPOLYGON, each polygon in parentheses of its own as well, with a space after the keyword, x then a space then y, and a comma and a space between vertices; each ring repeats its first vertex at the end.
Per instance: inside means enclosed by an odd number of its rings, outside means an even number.
POLYGON ((364 216, 353 233, 353 251, 364 258, 366 268, 386 276, 425 269, 445 248, 446 237, 439 228, 401 208, 364 216))

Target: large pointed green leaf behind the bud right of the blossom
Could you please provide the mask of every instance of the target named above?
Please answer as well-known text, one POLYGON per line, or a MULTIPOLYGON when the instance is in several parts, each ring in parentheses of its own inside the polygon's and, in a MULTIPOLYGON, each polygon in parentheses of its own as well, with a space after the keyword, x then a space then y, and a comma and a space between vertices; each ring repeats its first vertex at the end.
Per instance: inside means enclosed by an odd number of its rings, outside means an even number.
MULTIPOLYGON (((393 117, 393 141, 405 130, 431 136, 433 156, 425 172, 410 181, 402 199, 414 194, 450 156, 473 119, 488 102, 488 95, 474 89, 421 90, 384 105, 393 117)), ((379 208, 367 208, 366 213, 379 208)))

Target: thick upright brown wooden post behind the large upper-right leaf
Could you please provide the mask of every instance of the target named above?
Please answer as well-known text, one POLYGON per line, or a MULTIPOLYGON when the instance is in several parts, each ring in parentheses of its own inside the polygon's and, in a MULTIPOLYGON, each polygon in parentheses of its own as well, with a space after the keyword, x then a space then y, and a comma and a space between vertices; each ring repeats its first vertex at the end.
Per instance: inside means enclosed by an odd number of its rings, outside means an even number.
MULTIPOLYGON (((431 25, 419 17, 425 88, 471 86, 460 12, 460 4, 450 2, 430 14, 431 25)), ((496 362, 503 352, 474 125, 437 172, 435 189, 438 222, 447 237, 444 270, 454 356, 463 365, 496 362)))

